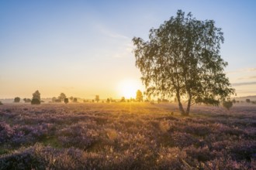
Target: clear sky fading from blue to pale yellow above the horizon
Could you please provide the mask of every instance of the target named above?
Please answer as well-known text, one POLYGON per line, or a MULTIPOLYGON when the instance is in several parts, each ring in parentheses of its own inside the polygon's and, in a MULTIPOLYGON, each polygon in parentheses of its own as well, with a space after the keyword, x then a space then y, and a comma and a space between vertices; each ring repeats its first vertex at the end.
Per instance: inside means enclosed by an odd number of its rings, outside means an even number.
POLYGON ((222 28, 221 56, 237 97, 256 95, 254 0, 1 0, 0 98, 36 90, 41 97, 120 98, 134 89, 135 96, 144 86, 132 39, 147 40, 178 9, 222 28))

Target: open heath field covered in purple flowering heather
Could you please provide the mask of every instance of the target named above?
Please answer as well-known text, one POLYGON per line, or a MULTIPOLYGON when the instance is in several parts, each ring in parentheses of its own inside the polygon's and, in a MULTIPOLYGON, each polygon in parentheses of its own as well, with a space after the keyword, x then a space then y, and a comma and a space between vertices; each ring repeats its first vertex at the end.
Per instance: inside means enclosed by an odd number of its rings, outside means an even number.
POLYGON ((5 104, 0 169, 256 169, 256 105, 5 104))

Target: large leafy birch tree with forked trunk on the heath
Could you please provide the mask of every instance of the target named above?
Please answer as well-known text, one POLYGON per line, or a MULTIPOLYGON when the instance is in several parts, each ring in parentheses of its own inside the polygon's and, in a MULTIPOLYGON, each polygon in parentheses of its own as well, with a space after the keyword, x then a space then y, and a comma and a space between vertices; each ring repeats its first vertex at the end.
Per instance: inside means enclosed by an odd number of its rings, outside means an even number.
POLYGON ((230 87, 220 57, 223 32, 213 20, 200 21, 178 10, 158 29, 150 29, 149 40, 134 37, 136 66, 142 74, 147 95, 178 100, 182 115, 192 104, 219 105, 235 90, 230 87), (187 100, 186 110, 182 98, 187 100))

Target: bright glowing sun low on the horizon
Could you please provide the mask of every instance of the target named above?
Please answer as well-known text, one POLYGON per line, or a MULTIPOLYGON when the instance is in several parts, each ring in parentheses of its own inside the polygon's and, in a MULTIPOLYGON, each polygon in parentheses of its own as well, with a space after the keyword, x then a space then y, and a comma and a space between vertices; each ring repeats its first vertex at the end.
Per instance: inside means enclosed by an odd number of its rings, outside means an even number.
POLYGON ((119 95, 121 97, 125 97, 126 99, 135 98, 137 90, 140 89, 140 81, 133 79, 122 80, 118 86, 119 95))

